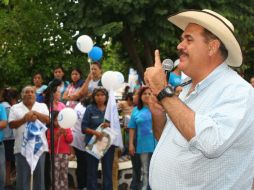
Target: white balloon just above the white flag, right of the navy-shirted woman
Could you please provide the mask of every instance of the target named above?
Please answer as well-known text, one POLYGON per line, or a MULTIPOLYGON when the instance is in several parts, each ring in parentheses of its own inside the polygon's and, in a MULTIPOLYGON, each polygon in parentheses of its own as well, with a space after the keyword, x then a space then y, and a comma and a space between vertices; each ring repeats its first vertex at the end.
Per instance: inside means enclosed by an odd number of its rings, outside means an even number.
POLYGON ((101 82, 107 90, 117 90, 124 83, 124 77, 118 71, 107 71, 102 75, 101 82))

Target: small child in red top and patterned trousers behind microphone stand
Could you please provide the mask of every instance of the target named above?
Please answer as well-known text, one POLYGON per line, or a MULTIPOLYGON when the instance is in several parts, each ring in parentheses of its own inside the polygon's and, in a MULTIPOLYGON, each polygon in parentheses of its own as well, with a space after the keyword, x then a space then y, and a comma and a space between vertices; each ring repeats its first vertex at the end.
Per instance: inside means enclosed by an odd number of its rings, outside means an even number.
MULTIPOLYGON (((73 141, 71 129, 64 129, 57 121, 58 111, 54 111, 54 153, 55 153, 55 190, 68 190, 68 155, 73 141)), ((50 131, 47 133, 50 149, 50 131)))

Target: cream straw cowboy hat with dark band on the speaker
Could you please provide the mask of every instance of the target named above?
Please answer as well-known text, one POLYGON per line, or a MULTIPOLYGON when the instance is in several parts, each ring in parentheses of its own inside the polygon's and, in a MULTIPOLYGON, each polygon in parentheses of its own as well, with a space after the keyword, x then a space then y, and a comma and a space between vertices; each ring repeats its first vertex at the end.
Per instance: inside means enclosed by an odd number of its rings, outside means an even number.
POLYGON ((239 67, 242 64, 242 51, 234 36, 234 26, 225 17, 218 13, 204 10, 187 10, 168 18, 177 27, 185 30, 189 23, 198 24, 217 36, 228 50, 225 60, 229 66, 239 67))

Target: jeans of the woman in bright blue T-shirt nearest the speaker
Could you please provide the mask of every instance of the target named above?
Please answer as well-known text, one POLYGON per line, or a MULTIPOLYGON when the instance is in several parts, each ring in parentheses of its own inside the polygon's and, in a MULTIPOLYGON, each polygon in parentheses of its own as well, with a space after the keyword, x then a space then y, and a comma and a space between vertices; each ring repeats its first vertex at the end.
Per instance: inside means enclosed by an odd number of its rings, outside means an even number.
POLYGON ((142 187, 141 190, 150 190, 149 186, 149 165, 152 153, 141 153, 141 167, 142 167, 142 187))

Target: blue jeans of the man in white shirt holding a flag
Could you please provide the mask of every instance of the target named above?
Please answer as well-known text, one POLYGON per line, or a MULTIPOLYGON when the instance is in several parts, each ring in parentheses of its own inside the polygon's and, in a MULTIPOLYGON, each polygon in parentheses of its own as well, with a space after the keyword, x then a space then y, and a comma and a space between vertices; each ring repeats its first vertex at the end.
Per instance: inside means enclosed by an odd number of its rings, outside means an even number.
MULTIPOLYGON (((16 190, 30 189, 31 169, 26 158, 20 153, 15 154, 16 161, 16 190)), ((36 168, 33 173, 33 189, 45 190, 44 184, 44 164, 45 153, 43 153, 38 160, 36 168)))

